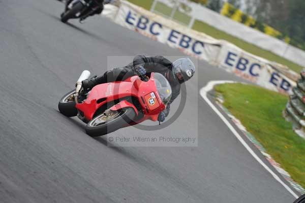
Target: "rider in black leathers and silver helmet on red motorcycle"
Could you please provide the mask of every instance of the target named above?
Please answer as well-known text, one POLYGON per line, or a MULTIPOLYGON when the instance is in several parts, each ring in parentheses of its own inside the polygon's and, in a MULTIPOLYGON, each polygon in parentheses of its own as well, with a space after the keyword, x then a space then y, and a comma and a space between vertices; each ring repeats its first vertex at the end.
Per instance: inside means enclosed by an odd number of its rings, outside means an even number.
POLYGON ((189 58, 181 58, 172 63, 163 56, 145 57, 144 55, 137 55, 133 63, 126 67, 114 68, 99 77, 83 80, 82 86, 84 90, 88 91, 97 84, 122 81, 137 75, 136 73, 145 75, 146 72, 161 73, 170 83, 172 89, 171 99, 158 118, 158 121, 163 122, 169 114, 170 103, 180 94, 180 83, 189 80, 195 74, 195 66, 189 58))

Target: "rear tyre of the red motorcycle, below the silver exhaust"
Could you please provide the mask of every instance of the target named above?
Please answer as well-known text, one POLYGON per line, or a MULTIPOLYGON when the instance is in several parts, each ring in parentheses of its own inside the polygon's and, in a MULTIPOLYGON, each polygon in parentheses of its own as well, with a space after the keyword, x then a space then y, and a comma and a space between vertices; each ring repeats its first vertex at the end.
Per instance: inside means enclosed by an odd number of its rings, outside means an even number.
POLYGON ((77 109, 75 107, 76 103, 74 100, 71 100, 71 96, 75 94, 75 90, 67 93, 62 99, 58 102, 58 109, 60 113, 66 115, 66 117, 75 117, 77 115, 77 109))

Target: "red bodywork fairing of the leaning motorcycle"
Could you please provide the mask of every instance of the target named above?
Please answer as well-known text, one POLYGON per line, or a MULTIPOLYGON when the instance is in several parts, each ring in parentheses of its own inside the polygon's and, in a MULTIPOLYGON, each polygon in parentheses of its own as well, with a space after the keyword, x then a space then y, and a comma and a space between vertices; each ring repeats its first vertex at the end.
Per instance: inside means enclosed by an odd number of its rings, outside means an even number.
POLYGON ((137 115, 140 111, 143 117, 134 121, 135 123, 144 120, 157 121, 159 113, 165 109, 166 104, 162 101, 159 94, 160 89, 156 86, 156 74, 160 73, 151 73, 149 80, 146 82, 142 81, 139 76, 132 76, 125 81, 96 85, 82 103, 76 104, 76 108, 83 113, 86 120, 90 121, 99 108, 112 102, 114 106, 110 106, 111 110, 131 107, 137 115), (127 98, 136 98, 140 105, 136 107, 127 98))

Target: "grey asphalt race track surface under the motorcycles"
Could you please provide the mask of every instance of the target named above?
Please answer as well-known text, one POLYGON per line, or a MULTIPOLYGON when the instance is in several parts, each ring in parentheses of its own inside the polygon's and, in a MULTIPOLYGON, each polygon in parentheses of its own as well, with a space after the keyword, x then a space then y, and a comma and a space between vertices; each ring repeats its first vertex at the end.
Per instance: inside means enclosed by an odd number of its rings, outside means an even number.
POLYGON ((81 71, 103 73, 107 56, 182 55, 99 16, 64 24, 62 10, 54 0, 0 0, 1 202, 293 202, 200 98, 209 80, 240 80, 207 63, 198 64, 171 126, 113 133, 196 129, 198 147, 107 147, 106 137, 91 138, 84 124, 60 114, 57 102, 81 71))

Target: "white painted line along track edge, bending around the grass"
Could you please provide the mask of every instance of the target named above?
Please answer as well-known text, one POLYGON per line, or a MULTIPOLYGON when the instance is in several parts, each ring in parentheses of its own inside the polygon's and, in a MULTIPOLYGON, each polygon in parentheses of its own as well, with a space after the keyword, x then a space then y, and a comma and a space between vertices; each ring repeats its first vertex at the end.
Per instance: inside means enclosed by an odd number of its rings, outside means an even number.
POLYGON ((230 124, 230 122, 224 117, 224 115, 216 108, 214 104, 207 98, 207 93, 211 91, 216 84, 223 84, 223 83, 236 83, 235 81, 231 80, 215 80, 209 81, 206 86, 201 88, 200 95, 205 100, 205 102, 216 112, 216 114, 220 117, 220 119, 227 125, 227 127, 232 131, 235 137, 241 142, 243 147, 245 147, 248 152, 275 178, 279 183, 281 183, 288 192, 290 192, 295 198, 298 198, 298 195, 286 185, 275 172, 273 172, 256 154, 255 152, 249 147, 247 142, 242 139, 242 137, 238 134, 238 132, 234 129, 234 127, 230 124))

